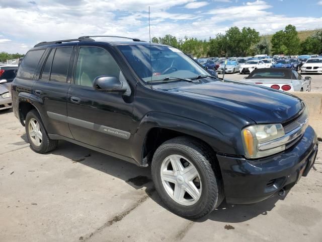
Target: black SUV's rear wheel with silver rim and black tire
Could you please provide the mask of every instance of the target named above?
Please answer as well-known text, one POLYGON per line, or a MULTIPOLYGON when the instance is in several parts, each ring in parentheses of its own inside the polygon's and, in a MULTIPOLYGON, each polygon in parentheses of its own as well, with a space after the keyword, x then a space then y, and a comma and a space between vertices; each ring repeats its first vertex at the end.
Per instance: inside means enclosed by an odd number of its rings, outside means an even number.
POLYGON ((33 151, 44 154, 57 147, 58 140, 49 139, 39 113, 32 109, 26 115, 26 134, 33 151))

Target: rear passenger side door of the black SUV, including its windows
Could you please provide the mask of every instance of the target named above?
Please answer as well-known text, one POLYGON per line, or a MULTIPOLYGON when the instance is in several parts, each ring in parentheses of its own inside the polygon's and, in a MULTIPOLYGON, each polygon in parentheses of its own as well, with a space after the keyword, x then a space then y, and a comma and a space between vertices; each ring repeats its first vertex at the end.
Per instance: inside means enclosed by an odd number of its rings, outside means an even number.
POLYGON ((33 86, 33 93, 43 103, 46 130, 49 134, 72 138, 67 124, 67 82, 73 47, 59 47, 49 50, 39 80, 33 86))

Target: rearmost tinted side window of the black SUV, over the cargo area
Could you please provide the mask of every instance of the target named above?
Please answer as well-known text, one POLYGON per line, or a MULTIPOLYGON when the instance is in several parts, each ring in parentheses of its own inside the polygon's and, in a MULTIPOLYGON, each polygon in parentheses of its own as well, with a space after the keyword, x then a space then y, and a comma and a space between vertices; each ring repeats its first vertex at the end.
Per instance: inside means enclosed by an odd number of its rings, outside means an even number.
POLYGON ((38 63, 41 59, 41 56, 43 55, 44 52, 45 52, 44 49, 29 51, 25 55, 19 67, 17 76, 20 78, 32 79, 34 77, 34 74, 38 66, 38 63))

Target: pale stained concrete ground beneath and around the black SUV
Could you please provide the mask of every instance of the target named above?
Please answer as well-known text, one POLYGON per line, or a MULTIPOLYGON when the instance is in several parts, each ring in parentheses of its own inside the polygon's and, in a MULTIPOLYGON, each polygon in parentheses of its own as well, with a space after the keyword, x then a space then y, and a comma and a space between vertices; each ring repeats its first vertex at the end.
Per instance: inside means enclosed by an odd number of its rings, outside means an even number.
POLYGON ((34 153, 12 111, 0 144, 0 241, 322 241, 321 151, 284 201, 223 203, 191 221, 160 202, 149 168, 63 141, 34 153))

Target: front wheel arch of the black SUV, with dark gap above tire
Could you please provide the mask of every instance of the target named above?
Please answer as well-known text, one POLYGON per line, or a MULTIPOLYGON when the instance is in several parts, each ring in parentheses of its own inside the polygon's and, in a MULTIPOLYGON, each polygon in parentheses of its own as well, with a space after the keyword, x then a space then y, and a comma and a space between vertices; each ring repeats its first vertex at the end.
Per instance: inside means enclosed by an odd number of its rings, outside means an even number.
POLYGON ((214 153, 221 150, 223 135, 216 129, 196 120, 153 112, 142 118, 134 135, 133 156, 146 166, 159 145, 178 136, 197 139, 214 153))

